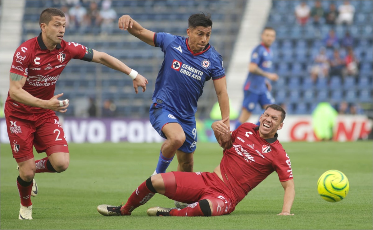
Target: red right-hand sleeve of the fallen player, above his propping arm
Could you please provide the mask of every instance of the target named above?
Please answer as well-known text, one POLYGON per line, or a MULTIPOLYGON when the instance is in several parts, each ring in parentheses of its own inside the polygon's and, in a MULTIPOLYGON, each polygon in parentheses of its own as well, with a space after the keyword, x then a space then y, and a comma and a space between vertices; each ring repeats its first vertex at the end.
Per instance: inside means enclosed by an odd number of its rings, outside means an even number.
POLYGON ((291 169, 290 158, 284 149, 279 151, 278 158, 273 161, 272 166, 277 172, 280 181, 291 180, 293 178, 293 172, 291 169))

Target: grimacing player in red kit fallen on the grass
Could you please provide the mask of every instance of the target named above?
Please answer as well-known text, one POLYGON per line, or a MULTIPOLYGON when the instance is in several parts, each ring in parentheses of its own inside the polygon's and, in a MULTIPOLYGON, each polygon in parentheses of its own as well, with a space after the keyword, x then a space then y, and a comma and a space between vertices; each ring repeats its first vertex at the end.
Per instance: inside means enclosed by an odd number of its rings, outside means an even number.
MULTIPOLYGON (((229 118, 215 121, 215 137, 228 130, 229 118)), ((244 123, 232 132, 232 147, 225 150, 214 172, 167 172, 144 181, 124 206, 99 205, 102 215, 131 215, 155 193, 175 201, 189 203, 186 208, 149 208, 150 216, 217 216, 234 211, 238 202, 273 171, 276 171, 285 195, 278 215, 294 215, 290 209, 295 190, 289 156, 277 140, 285 111, 279 105, 267 106, 260 116, 260 125, 244 123)))

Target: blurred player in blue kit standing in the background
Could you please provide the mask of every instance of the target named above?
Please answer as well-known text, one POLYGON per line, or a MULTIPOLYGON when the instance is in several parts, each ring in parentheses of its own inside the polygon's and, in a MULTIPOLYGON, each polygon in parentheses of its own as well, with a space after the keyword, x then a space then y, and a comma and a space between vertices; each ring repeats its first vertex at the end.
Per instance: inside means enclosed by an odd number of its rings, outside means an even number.
POLYGON ((273 53, 269 49, 275 39, 275 29, 272 27, 264 28, 261 34, 261 44, 251 54, 249 73, 244 85, 244 101, 236 122, 236 128, 250 118, 257 103, 263 109, 275 103, 270 93, 270 81, 277 81, 279 77, 272 72, 273 53))

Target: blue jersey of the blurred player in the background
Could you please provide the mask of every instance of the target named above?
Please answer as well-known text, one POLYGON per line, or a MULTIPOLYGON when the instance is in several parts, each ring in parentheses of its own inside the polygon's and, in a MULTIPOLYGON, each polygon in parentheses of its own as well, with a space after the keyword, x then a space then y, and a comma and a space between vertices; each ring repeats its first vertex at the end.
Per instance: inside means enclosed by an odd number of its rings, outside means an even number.
MULTIPOLYGON (((258 67, 265 72, 273 72, 272 59, 272 51, 267 49, 263 44, 258 45, 251 54, 251 63, 256 63, 258 67)), ((266 77, 249 72, 244 90, 248 90, 256 94, 265 93, 268 90, 265 80, 266 77)))

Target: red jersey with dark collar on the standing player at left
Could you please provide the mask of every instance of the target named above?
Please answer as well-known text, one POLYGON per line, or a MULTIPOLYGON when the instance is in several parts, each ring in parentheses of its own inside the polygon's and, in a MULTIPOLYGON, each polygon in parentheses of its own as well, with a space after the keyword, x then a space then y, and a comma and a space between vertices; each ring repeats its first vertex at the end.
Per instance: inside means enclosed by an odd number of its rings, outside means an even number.
MULTIPOLYGON (((41 39, 40 33, 38 37, 31 38, 18 47, 10 72, 26 77, 23 86, 25 91, 34 97, 49 100, 54 96, 57 79, 71 59, 91 61, 93 50, 78 43, 62 40, 61 44, 57 44, 56 48, 50 51, 41 39)), ((11 111, 21 114, 50 111, 16 102, 10 98, 9 91, 6 102, 11 111)))

